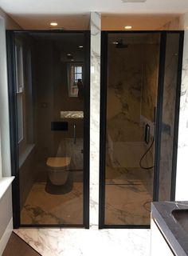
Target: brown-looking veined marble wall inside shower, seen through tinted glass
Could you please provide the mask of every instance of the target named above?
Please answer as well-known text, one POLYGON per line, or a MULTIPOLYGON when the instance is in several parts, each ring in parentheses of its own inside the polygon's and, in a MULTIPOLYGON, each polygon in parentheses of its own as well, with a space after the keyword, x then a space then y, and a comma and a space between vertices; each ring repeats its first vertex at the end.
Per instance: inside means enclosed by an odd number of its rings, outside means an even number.
MULTIPOLYGON (((112 34, 108 43, 108 165, 139 167, 147 150, 145 124, 153 129, 159 71, 159 38, 148 35, 131 39, 117 35, 127 48, 117 48, 112 34)), ((117 40, 117 39, 116 39, 117 40)), ((147 166, 153 165, 153 154, 147 166)), ((147 157, 148 157, 147 155, 147 157)))

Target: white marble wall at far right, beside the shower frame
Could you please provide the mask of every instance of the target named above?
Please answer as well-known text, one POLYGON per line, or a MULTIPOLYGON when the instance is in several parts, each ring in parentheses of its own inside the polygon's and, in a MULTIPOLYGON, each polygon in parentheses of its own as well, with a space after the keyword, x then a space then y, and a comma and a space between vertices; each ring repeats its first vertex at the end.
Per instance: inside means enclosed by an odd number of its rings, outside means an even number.
POLYGON ((188 13, 166 23, 161 30, 184 30, 182 84, 178 124, 178 158, 175 200, 187 200, 188 194, 188 13))

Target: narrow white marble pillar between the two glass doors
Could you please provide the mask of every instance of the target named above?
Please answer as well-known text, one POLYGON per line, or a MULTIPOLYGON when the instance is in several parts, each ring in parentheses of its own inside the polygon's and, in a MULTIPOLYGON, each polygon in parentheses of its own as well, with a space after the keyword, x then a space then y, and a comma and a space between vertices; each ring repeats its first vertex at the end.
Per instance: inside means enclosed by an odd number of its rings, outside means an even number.
POLYGON ((90 226, 99 220, 100 170, 100 13, 91 13, 91 78, 90 78, 90 226))

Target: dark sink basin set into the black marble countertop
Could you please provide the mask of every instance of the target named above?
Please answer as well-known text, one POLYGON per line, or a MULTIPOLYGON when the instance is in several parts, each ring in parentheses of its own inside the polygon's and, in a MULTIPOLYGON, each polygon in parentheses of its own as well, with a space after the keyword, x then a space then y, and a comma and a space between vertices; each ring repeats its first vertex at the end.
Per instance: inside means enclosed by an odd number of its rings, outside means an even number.
POLYGON ((173 210, 172 215, 182 229, 186 231, 186 234, 188 234, 188 209, 173 210))

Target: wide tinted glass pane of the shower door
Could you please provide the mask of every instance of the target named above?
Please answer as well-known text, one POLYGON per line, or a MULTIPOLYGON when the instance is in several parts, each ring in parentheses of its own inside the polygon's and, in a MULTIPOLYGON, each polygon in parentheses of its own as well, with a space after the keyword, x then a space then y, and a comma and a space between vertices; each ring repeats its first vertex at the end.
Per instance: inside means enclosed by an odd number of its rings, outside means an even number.
POLYGON ((159 42, 159 34, 108 34, 107 225, 150 224, 159 42))

